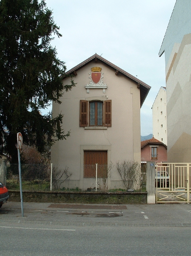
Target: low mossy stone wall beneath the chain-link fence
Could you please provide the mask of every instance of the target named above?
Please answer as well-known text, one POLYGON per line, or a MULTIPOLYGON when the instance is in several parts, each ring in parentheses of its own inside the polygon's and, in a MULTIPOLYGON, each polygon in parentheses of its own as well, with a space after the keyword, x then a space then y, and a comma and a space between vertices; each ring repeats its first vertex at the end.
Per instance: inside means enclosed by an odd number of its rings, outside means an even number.
MULTIPOLYGON (((39 192, 23 191, 24 202, 73 204, 147 204, 147 192, 39 192)), ((9 190, 9 201, 21 201, 19 190, 9 190)))

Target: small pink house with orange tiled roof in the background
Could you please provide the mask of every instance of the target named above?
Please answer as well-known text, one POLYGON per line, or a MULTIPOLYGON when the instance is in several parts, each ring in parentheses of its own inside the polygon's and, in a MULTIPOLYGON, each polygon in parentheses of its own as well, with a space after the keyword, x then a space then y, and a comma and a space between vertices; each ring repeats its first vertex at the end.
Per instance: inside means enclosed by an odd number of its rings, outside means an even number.
POLYGON ((155 139, 147 139, 141 141, 141 165, 146 165, 146 162, 164 163, 167 162, 167 146, 155 139))

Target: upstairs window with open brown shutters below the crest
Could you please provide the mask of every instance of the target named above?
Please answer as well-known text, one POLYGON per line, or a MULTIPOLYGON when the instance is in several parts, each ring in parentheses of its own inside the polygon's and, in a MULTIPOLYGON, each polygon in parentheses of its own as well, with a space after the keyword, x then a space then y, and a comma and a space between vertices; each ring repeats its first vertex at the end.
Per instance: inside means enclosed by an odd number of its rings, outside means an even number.
POLYGON ((80 100, 79 126, 112 126, 112 101, 80 100))

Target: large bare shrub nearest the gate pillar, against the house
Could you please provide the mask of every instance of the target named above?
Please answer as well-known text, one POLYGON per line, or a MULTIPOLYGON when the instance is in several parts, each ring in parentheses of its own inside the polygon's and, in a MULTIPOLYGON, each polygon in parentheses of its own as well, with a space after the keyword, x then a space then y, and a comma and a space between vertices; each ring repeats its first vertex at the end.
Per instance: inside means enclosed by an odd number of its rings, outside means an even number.
POLYGON ((141 190, 141 166, 138 162, 124 160, 122 163, 117 162, 116 167, 126 189, 141 190))

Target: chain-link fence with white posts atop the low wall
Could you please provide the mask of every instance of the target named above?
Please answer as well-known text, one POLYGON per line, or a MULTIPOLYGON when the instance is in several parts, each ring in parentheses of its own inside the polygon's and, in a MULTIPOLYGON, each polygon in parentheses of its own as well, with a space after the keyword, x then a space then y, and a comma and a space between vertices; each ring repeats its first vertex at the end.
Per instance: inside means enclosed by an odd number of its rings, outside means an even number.
MULTIPOLYGON (((84 165, 84 189, 85 191, 101 190, 106 192, 108 187, 108 180, 113 183, 115 181, 120 181, 120 176, 116 168, 113 168, 113 163, 109 164, 94 164, 94 165, 84 165), (112 169, 113 168, 113 169, 112 169), (115 175, 114 175, 115 174, 115 175), (118 174, 118 177, 117 177, 118 174), (113 177, 117 179, 113 179, 113 177)), ((80 171, 80 170, 79 170, 80 171)), ((129 172, 129 171, 127 171, 129 172)), ((22 179, 22 190, 35 190, 35 191, 72 191, 72 190, 82 190, 78 188, 76 184, 79 180, 75 180, 75 175, 78 172, 70 172, 67 166, 59 167, 56 165, 44 165, 44 164, 21 164, 21 179, 22 179), (72 179, 70 178, 72 176, 72 179), (73 187, 72 187, 73 186, 73 187)), ((140 188, 146 182, 146 170, 141 168, 141 181, 140 188)), ((8 189, 19 190, 19 166, 18 164, 7 165, 7 179, 6 186, 8 189)), ((134 175, 136 176, 136 175, 134 175)), ((126 177, 126 176, 125 176, 126 177)), ((136 176, 137 177, 137 176, 136 176)), ((138 177, 138 180, 140 180, 138 177)), ((128 182, 127 178, 124 178, 123 182, 128 182)), ((135 181, 132 181, 134 184, 135 181)), ((119 183, 117 183, 119 184, 119 183)), ((120 189, 120 187, 119 187, 120 189)))

